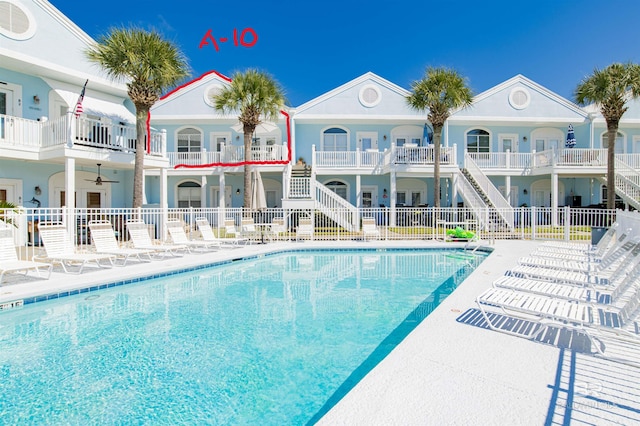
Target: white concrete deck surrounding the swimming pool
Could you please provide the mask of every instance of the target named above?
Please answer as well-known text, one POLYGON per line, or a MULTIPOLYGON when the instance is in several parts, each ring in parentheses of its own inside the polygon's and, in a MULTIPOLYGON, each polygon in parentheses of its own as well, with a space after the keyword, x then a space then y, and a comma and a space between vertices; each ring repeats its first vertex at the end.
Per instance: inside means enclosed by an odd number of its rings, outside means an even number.
MULTIPOLYGON (((489 245, 493 253, 319 424, 640 422, 639 368, 483 328, 476 296, 538 244, 489 245)), ((335 241, 269 243, 111 269, 88 267, 80 275, 57 267, 49 280, 10 276, 0 287, 0 303, 274 250, 336 246, 335 241)), ((340 241, 339 246, 452 247, 432 241, 340 241)))

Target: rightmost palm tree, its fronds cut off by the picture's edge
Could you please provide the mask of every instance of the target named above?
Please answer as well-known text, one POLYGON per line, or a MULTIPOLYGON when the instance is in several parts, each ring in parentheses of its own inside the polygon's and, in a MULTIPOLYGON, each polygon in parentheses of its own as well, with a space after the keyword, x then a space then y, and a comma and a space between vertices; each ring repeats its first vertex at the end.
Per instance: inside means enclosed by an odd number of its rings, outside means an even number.
POLYGON ((615 143, 627 101, 640 96, 640 66, 632 63, 613 63, 585 77, 575 91, 580 105, 593 103, 607 122, 607 208, 615 209, 615 143))

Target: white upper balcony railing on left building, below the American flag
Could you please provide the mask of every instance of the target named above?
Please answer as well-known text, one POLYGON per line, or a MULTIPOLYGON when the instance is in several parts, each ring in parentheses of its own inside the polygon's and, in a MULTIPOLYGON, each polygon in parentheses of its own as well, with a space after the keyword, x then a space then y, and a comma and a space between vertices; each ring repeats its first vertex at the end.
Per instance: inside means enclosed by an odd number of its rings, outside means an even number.
MULTIPOLYGON (((135 145, 135 125, 72 114, 49 121, 0 115, 0 152, 6 157, 40 159, 44 151, 73 147, 135 153, 135 145)), ((165 133, 152 130, 147 155, 164 157, 165 147, 165 133)))

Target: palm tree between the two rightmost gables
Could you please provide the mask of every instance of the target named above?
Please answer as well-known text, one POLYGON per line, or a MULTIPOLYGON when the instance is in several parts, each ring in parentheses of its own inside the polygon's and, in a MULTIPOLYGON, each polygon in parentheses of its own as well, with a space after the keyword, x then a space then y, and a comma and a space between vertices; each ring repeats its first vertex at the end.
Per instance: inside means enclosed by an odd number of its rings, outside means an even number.
POLYGON ((440 207, 440 141, 442 128, 451 111, 471 105, 473 94, 466 79, 449 68, 428 67, 421 80, 411 84, 407 96, 409 106, 417 111, 428 111, 433 126, 433 185, 434 207, 440 207))

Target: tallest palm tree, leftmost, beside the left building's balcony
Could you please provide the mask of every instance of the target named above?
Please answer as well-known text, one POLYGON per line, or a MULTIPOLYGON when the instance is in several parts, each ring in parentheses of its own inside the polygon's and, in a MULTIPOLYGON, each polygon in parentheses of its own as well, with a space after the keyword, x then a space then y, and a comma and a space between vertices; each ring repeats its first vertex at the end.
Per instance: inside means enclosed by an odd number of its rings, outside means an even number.
POLYGON ((127 81, 127 93, 136 107, 133 207, 141 207, 149 110, 165 90, 189 76, 187 60, 178 47, 157 32, 137 28, 115 28, 85 53, 111 79, 127 81))

